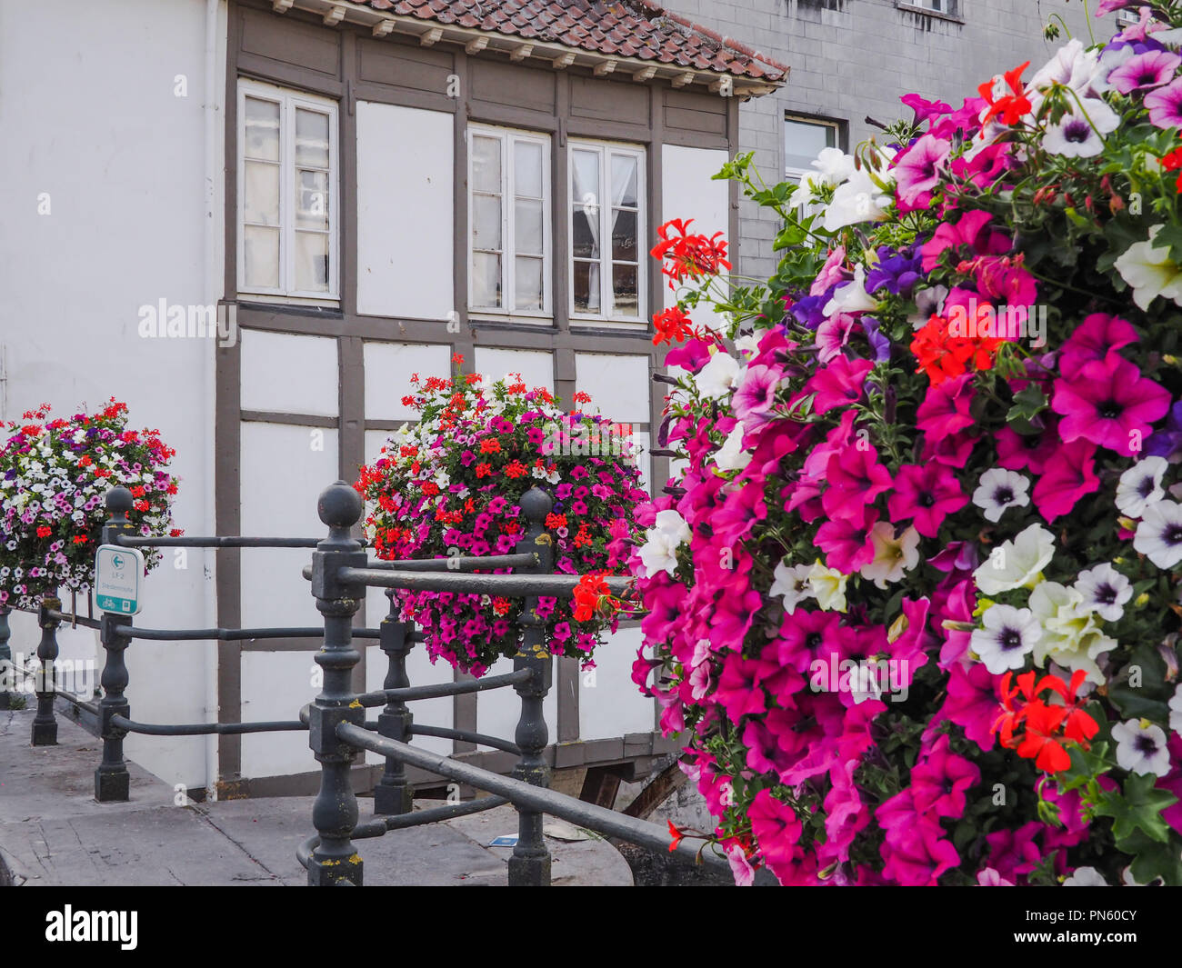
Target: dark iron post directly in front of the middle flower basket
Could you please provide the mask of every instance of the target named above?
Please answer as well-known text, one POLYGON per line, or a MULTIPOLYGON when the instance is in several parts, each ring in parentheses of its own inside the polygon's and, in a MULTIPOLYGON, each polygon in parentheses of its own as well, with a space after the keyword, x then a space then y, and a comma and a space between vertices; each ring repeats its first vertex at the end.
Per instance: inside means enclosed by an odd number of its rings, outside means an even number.
MULTIPOLYGON (((554 553, 550 533, 545 528, 546 515, 553 507, 550 495, 539 488, 530 488, 521 495, 521 513, 528 521, 518 553, 531 553, 534 564, 518 569, 526 574, 546 574, 553 567, 554 553)), ((526 598, 521 606, 521 641, 513 657, 513 669, 528 669, 531 677, 514 686, 521 697, 521 716, 518 720, 515 740, 521 751, 513 777, 534 786, 550 786, 550 767, 544 752, 550 741, 543 701, 550 691, 553 678, 553 658, 546 648, 545 619, 538 616, 538 598, 526 598)), ((541 833, 540 812, 518 807, 518 842, 509 858, 509 886, 550 886, 550 851, 541 833)))

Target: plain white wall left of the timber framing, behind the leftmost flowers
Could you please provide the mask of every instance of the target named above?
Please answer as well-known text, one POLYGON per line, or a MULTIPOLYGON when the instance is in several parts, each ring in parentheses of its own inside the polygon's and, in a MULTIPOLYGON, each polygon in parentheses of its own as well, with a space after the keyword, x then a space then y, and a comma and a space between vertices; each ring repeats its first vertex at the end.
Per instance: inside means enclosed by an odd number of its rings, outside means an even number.
MULTIPOLYGON (((220 294, 208 292, 202 245, 204 13, 203 0, 0 4, 0 418, 43 401, 64 415, 112 395, 125 401, 132 425, 160 428, 177 450, 176 521, 190 534, 213 531, 214 347, 142 339, 137 326, 142 305, 209 305, 220 294), (47 214, 39 214, 39 200, 47 214)), ((222 5, 219 97, 225 30, 222 5)), ((216 182, 215 240, 221 193, 216 182)), ((220 262, 222 254, 212 258, 220 262)), ((186 564, 178 570, 167 559, 148 579, 143 625, 214 624, 206 587, 213 554, 190 550, 186 564)), ((13 624, 13 649, 27 650, 28 623, 13 624)), ((82 632, 61 642, 63 655, 95 648, 82 632)), ((126 652, 132 716, 206 719, 203 662, 212 648, 134 643, 126 652)), ((201 738, 128 736, 125 748, 170 782, 204 782, 201 738)))

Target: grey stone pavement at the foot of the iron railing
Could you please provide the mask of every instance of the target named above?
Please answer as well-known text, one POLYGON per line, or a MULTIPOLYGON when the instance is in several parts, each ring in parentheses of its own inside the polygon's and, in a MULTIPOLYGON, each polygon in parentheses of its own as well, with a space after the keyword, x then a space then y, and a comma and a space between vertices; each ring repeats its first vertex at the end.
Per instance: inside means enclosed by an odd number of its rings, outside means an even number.
MULTIPOLYGON (((176 806, 171 787, 129 764, 130 801, 98 804, 93 773, 100 741, 59 712, 59 745, 34 749, 32 719, 32 709, 0 710, 0 883, 305 883, 296 847, 314 833, 311 798, 176 806)), ((359 805, 364 820, 372 800, 359 805)), ((548 817, 546 830, 586 837, 548 817)), ((515 832, 517 813, 502 806, 356 843, 366 885, 498 886, 507 883, 512 849, 486 845, 515 832)), ((547 836, 546 842, 556 885, 631 886, 631 870, 606 840, 547 836)))

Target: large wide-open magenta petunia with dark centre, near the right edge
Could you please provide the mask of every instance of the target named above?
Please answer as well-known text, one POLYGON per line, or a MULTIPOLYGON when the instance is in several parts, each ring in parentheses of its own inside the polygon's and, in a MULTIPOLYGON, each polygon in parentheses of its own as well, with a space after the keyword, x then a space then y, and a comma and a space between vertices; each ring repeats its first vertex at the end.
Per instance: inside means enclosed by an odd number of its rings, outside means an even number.
POLYGON ((1057 379, 1051 407, 1063 416, 1064 442, 1084 438, 1129 457, 1152 433, 1150 423, 1165 416, 1170 395, 1113 353, 1083 364, 1070 379, 1057 379))

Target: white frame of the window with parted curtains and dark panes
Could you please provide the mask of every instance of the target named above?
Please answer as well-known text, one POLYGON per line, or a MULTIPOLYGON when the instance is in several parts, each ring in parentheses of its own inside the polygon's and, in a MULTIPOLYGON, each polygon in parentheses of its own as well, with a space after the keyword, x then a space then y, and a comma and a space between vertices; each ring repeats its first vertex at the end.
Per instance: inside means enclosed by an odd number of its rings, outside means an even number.
POLYGON ((622 323, 637 327, 648 327, 648 258, 644 240, 648 238, 647 214, 648 214, 648 175, 645 164, 647 151, 642 145, 624 144, 615 141, 596 141, 592 138, 569 138, 566 151, 566 197, 564 204, 567 207, 566 217, 566 269, 571 280, 570 290, 570 319, 572 323, 622 323), (599 307, 598 313, 578 312, 574 308, 574 219, 570 212, 574 208, 576 200, 571 197, 574 186, 574 150, 596 150, 599 152, 599 307), (604 184, 604 180, 611 177, 611 156, 625 155, 636 158, 636 316, 618 316, 615 310, 615 292, 611 285, 611 188, 604 184), (604 189, 608 189, 606 191, 604 189), (604 204, 603 200, 608 199, 604 204), (606 272, 604 267, 606 266, 606 272), (608 307, 606 311, 603 311, 608 307))

